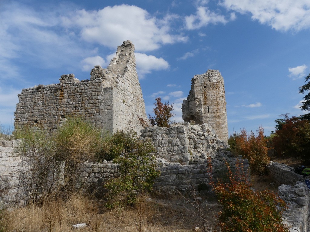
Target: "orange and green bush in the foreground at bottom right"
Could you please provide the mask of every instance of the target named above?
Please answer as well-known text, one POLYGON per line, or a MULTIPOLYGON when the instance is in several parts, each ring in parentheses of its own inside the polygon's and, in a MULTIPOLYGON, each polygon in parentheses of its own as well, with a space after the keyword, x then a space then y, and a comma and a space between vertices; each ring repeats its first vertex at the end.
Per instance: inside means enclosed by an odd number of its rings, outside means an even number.
POLYGON ((228 182, 211 183, 222 205, 221 231, 288 232, 281 224, 286 203, 271 191, 253 191, 245 176, 233 173, 228 164, 227 167, 228 182))

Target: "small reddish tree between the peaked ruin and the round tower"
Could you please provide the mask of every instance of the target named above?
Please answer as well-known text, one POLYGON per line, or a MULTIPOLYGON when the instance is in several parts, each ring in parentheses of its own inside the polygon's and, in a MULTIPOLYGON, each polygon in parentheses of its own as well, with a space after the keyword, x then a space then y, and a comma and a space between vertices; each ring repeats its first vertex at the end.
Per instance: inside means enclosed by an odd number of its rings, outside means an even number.
POLYGON ((158 126, 158 127, 169 127, 171 123, 171 118, 175 116, 172 113, 173 104, 169 105, 168 103, 162 103, 160 97, 155 98, 156 102, 153 104, 155 108, 153 108, 154 117, 148 115, 148 120, 150 121, 151 126, 158 126))

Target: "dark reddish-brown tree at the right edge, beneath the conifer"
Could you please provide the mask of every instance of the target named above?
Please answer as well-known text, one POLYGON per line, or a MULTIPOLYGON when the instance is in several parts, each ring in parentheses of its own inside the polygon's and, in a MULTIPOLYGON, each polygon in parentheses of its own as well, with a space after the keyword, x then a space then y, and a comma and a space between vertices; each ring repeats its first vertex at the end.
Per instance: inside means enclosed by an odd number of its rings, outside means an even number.
MULTIPOLYGON (((277 122, 277 121, 276 121, 277 122)), ((285 117, 272 138, 280 157, 300 157, 310 160, 310 123, 298 117, 285 117)))

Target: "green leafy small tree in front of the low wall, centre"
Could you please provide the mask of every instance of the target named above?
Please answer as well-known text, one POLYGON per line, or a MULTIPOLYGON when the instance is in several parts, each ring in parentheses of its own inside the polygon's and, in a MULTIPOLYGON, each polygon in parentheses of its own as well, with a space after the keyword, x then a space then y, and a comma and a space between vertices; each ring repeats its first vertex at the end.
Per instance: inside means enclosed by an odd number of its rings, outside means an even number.
POLYGON ((152 189, 155 178, 159 176, 154 146, 140 140, 134 131, 117 131, 112 136, 111 153, 113 162, 118 164, 118 173, 105 187, 111 195, 125 195, 126 204, 131 205, 139 192, 152 189))

